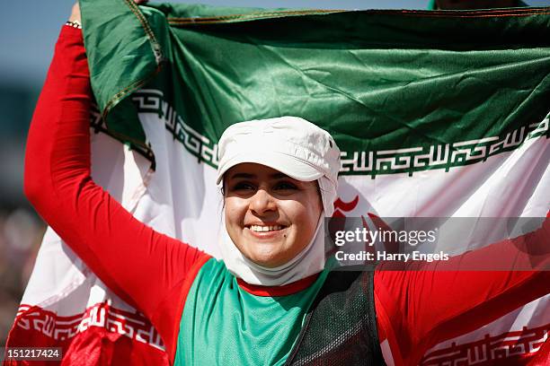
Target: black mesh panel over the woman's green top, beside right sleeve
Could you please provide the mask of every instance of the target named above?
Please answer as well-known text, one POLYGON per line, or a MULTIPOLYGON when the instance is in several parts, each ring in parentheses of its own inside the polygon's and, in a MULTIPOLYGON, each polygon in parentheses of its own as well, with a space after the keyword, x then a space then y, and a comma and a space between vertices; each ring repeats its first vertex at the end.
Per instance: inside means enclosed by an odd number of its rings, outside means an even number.
POLYGON ((285 365, 385 364, 377 334, 374 272, 331 272, 285 365))

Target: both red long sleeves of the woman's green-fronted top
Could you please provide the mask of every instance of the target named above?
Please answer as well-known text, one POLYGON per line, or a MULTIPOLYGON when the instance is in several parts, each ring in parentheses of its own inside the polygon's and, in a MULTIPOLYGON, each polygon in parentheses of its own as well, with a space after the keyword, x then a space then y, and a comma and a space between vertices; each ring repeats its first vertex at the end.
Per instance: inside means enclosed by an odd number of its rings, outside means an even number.
MULTIPOLYGON (((146 314, 173 360, 185 289, 209 256, 138 222, 93 182, 90 102, 81 31, 64 27, 32 119, 25 194, 112 291, 146 314)), ((549 233, 546 220, 532 234, 466 253, 448 265, 417 263, 416 271, 378 269, 378 333, 389 341, 395 364, 417 364, 431 346, 549 293, 548 272, 444 272, 440 267, 492 258, 503 266, 529 263, 547 268, 548 250, 533 255, 518 248, 548 243, 549 233)))

